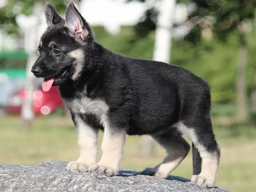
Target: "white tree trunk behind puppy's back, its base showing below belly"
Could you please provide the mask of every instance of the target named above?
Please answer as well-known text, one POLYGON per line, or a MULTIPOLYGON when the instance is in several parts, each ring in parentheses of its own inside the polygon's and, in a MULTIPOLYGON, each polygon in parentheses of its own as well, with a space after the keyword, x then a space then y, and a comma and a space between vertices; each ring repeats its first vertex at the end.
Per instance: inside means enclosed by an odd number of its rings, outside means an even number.
MULTIPOLYGON (((155 31, 153 60, 170 62, 172 26, 174 22, 176 0, 162 0, 155 31)), ((140 141, 140 154, 152 156, 155 153, 154 140, 144 135, 140 141)))

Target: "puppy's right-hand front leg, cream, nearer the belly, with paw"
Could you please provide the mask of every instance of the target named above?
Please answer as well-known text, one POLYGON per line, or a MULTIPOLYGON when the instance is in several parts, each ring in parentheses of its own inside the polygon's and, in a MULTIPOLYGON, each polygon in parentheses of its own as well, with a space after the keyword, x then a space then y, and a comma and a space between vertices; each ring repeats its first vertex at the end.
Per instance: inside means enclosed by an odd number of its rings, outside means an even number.
POLYGON ((126 133, 124 131, 105 127, 102 141, 101 160, 89 168, 91 173, 106 176, 118 174, 119 163, 123 155, 123 145, 126 133))

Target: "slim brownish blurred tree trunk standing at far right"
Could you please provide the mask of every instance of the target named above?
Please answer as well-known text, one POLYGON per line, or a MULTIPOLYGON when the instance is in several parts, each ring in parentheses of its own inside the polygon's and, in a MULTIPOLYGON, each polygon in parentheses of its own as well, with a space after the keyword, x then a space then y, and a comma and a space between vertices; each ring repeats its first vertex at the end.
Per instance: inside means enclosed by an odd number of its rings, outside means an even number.
POLYGON ((238 76, 236 82, 236 115, 239 122, 246 122, 248 118, 247 89, 246 89, 246 65, 248 50, 245 42, 245 34, 240 35, 241 47, 239 50, 238 76))

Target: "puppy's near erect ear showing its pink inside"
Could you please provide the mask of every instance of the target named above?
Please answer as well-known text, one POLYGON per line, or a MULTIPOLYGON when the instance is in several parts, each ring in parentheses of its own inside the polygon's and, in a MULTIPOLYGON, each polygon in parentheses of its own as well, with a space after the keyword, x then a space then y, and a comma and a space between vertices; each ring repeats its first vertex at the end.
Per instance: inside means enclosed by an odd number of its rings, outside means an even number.
POLYGON ((82 40, 89 34, 84 20, 73 2, 69 4, 66 10, 65 27, 68 28, 70 36, 79 37, 82 40))

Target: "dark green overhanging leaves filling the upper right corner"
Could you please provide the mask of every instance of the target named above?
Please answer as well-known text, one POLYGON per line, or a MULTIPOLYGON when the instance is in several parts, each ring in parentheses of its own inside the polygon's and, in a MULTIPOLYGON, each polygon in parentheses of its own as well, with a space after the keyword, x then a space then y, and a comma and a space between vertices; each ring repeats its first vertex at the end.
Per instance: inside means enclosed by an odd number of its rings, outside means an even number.
MULTIPOLYGON (((201 30, 197 29, 206 25, 200 19, 213 16, 215 18, 213 31, 218 38, 225 40, 230 32, 237 32, 241 22, 254 17, 256 7, 256 0, 192 0, 192 2, 197 5, 197 9, 189 18, 194 23, 192 33, 194 32, 194 38, 196 39, 201 37, 197 34, 201 30)), ((191 37, 192 34, 190 34, 191 37)))

